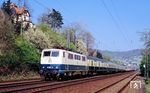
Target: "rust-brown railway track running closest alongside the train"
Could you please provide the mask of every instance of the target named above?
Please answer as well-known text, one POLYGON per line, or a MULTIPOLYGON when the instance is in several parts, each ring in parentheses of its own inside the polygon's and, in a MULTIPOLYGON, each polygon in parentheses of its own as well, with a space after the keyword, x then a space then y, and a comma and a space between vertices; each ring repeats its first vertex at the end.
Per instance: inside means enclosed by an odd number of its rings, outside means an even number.
POLYGON ((0 92, 15 92, 15 93, 30 93, 30 92, 44 92, 44 91, 52 91, 58 88, 78 85, 87 83, 90 81, 96 81, 101 79, 106 79, 109 77, 120 76, 123 74, 128 74, 130 76, 131 72, 126 73, 117 73, 117 74, 110 74, 110 75, 101 75, 77 80, 69 80, 69 81, 34 81, 34 82, 24 82, 24 83, 13 83, 13 84, 6 84, 2 87, 0 86, 0 92))

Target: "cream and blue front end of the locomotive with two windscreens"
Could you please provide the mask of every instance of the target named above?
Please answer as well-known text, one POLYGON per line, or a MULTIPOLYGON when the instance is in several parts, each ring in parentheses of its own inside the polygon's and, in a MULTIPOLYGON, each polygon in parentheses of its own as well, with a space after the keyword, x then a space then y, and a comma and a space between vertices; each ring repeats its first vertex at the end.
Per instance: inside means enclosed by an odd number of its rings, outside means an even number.
POLYGON ((45 49, 41 54, 40 75, 45 80, 54 79, 60 74, 61 52, 58 49, 45 49))

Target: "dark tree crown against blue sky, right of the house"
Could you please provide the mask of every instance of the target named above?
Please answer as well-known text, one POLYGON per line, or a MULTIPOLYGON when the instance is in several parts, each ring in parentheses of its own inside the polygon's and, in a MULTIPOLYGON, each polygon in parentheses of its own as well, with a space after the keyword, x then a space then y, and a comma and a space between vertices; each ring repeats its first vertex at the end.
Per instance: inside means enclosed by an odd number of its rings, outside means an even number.
POLYGON ((61 13, 55 9, 52 9, 52 11, 48 10, 46 13, 44 13, 39 18, 39 21, 54 29, 59 29, 64 24, 61 13))

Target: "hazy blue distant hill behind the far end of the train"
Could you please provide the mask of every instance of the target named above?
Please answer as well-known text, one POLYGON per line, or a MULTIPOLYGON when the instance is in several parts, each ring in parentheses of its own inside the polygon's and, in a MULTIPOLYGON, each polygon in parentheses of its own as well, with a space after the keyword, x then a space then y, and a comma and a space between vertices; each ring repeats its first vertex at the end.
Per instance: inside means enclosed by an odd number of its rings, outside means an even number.
POLYGON ((109 56, 113 60, 118 60, 124 63, 140 64, 140 61, 142 59, 142 49, 134 49, 129 51, 100 51, 102 55, 109 56))

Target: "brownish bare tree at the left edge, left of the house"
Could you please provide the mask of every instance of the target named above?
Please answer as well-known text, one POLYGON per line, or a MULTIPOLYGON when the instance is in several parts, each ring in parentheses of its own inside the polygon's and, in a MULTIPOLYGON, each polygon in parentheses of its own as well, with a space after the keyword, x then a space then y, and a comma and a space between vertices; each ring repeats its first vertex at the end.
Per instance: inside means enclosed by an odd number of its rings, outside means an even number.
POLYGON ((0 10, 0 54, 12 50, 14 27, 8 15, 0 10))

